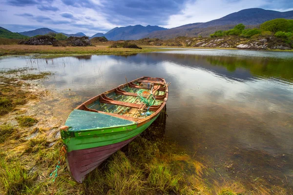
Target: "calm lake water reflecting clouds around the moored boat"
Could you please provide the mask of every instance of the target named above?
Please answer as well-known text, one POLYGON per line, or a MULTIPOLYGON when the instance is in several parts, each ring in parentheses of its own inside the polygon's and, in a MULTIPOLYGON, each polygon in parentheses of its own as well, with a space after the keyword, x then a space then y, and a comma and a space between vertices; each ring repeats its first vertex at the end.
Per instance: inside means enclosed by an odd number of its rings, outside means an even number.
MULTIPOLYGON (((207 182, 293 190, 293 53, 180 49, 135 55, 32 59, 5 57, 0 68, 34 67, 43 81, 84 100, 142 76, 169 86, 164 137, 205 164, 207 182)), ((33 72, 34 72, 33 71, 33 72)), ((69 113, 68 113, 69 114, 69 113)))

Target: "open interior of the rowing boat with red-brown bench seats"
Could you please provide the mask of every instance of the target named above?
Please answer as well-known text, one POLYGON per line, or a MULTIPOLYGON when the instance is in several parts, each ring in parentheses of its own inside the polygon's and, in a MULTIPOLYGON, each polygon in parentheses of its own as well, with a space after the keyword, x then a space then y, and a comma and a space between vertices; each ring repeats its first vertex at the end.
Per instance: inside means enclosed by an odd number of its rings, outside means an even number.
POLYGON ((167 100, 169 84, 163 78, 138 78, 87 100, 77 109, 127 118, 146 118, 167 100))

